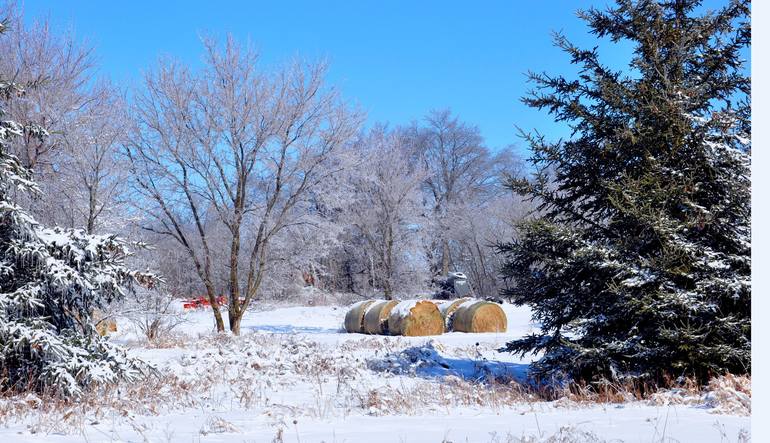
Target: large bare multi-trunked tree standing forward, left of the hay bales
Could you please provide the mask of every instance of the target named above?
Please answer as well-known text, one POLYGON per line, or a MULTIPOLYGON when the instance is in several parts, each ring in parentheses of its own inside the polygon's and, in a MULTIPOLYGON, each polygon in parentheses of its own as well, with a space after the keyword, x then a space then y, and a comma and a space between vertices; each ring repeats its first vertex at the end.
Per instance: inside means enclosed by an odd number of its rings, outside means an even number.
MULTIPOLYGON (((257 297, 272 242, 295 223, 308 190, 325 178, 331 154, 361 116, 324 87, 325 65, 294 63, 275 74, 228 38, 204 41, 206 66, 193 74, 166 62, 136 97, 127 153, 148 229, 174 238, 203 282, 218 330, 217 267, 227 270, 230 330, 257 297), (210 230, 228 232, 226 263, 212 260, 210 230)), ((221 246, 221 245, 220 245, 221 246)))

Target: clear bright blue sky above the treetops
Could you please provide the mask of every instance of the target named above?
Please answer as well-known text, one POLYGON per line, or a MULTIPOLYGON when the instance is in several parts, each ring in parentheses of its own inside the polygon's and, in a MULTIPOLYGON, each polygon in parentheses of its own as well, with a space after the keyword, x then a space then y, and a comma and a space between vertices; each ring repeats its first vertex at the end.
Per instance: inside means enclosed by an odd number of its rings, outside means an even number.
MULTIPOLYGON (((709 2, 713 3, 713 2, 709 2)), ((719 2, 716 2, 719 4, 719 2)), ((596 1, 42 1, 26 0, 28 20, 50 17, 96 48, 101 72, 138 84, 159 56, 200 64, 202 32, 232 33, 254 43, 266 65, 293 56, 327 58, 329 81, 367 111, 369 122, 392 125, 451 108, 478 125, 491 148, 516 144, 515 125, 567 135, 544 112, 521 104, 528 70, 570 73, 551 43, 563 31, 596 44, 580 7, 596 1)), ((611 64, 628 48, 603 43, 611 64)))

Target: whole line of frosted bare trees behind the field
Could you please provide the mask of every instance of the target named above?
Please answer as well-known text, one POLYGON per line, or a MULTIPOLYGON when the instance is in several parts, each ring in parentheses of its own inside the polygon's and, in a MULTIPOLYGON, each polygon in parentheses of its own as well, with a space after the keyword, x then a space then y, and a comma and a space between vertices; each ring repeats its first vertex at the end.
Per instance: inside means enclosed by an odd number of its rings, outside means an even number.
POLYGON ((236 324, 239 301, 305 286, 391 297, 450 271, 479 296, 504 285, 494 244, 527 205, 502 184, 522 162, 450 111, 364 129, 323 63, 262 68, 232 38, 204 40, 201 69, 162 60, 124 90, 92 47, 10 12, 0 67, 34 87, 6 112, 49 136, 9 150, 43 191, 26 202, 41 222, 150 245, 137 265, 178 296, 228 295, 236 324))

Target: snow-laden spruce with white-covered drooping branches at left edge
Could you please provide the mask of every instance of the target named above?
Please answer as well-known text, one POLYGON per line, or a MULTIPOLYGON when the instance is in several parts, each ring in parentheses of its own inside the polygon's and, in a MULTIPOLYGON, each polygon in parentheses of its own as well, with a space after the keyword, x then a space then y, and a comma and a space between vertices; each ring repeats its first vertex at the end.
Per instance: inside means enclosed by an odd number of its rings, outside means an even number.
MULTIPOLYGON (((0 24, 0 34, 7 30, 0 24)), ((8 152, 13 137, 46 137, 40 126, 6 120, 4 109, 24 85, 0 73, 0 388, 48 389, 77 396, 95 383, 135 378, 141 362, 99 336, 91 319, 135 280, 152 277, 124 265, 127 245, 115 236, 45 228, 16 203, 39 192, 31 173, 8 152)))

